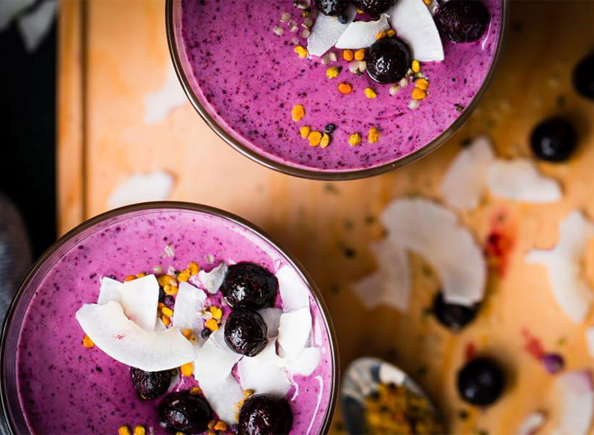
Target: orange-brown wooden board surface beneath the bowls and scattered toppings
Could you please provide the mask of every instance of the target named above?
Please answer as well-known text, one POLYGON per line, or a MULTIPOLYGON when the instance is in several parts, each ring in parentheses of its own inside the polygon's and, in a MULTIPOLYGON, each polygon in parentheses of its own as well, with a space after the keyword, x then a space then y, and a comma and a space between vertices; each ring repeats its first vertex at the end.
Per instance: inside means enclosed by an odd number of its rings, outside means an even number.
POLYGON ((59 229, 63 233, 108 210, 110 192, 127 176, 168 171, 175 176, 170 199, 243 216, 305 264, 330 308, 343 368, 361 355, 395 361, 426 387, 451 432, 513 432, 528 412, 547 409, 554 380, 523 351, 523 329, 538 336, 546 349, 561 352, 568 368, 594 369, 584 340, 594 317, 584 325, 571 323, 552 299, 544 269, 523 261, 530 248, 555 243, 558 221, 570 210, 581 208, 594 216, 594 104, 580 99, 570 83, 577 60, 593 48, 594 2, 513 1, 510 6, 503 59, 478 110, 457 134, 406 168, 330 183, 279 174, 242 157, 189 103, 162 121, 143 121, 144 97, 160 89, 170 71, 162 1, 62 2, 59 229), (467 138, 487 134, 498 155, 529 156, 530 130, 552 114, 569 116, 580 133, 580 151, 570 163, 540 165, 542 172, 560 179, 563 199, 534 206, 488 197, 479 209, 461 213, 481 241, 489 219, 501 210, 516 235, 507 273, 491 275, 478 320, 454 335, 422 314, 438 280, 421 273, 426 267, 416 257, 410 310, 367 311, 349 283, 375 269, 368 244, 382 228, 369 216, 377 216, 396 197, 420 194, 440 200, 437 185, 467 138), (349 248, 354 256, 345 254, 349 248), (486 411, 464 405, 454 388, 454 373, 469 343, 496 354, 510 375, 505 395, 486 411), (466 420, 457 417, 462 409, 469 412, 466 420))

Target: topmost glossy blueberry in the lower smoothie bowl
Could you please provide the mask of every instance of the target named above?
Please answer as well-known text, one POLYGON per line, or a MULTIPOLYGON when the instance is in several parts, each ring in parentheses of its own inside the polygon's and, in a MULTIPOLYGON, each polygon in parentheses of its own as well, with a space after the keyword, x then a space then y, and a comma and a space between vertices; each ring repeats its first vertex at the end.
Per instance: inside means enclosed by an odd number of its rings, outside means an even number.
POLYGON ((221 290, 233 308, 258 310, 274 304, 279 280, 258 264, 237 263, 229 266, 221 290))

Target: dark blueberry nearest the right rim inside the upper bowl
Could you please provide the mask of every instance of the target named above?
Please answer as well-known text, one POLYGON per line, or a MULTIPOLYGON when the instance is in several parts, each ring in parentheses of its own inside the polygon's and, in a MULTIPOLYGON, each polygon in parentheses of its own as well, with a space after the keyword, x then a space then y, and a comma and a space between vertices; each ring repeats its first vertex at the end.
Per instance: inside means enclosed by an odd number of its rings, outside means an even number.
POLYGON ((451 42, 472 42, 485 33, 489 11, 479 0, 450 0, 441 4, 435 22, 451 42))

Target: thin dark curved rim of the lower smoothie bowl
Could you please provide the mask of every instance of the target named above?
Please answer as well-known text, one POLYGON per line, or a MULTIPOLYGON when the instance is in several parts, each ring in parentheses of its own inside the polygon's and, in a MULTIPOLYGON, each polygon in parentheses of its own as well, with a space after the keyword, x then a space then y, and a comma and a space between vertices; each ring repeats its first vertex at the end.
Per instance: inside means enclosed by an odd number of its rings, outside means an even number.
MULTIPOLYGON (((326 411, 326 416, 324 417, 323 424, 321 426, 322 433, 328 433, 330 429, 330 423, 332 417, 334 415, 334 409, 336 408, 336 402, 338 399, 338 391, 339 391, 339 383, 340 383, 340 364, 339 364, 339 354, 338 354, 338 347, 336 342, 336 331, 334 330, 334 326, 330 319, 330 313, 328 311, 328 307, 326 302, 321 295, 320 289, 315 285, 314 280, 311 278, 307 270, 305 270, 304 266, 301 264, 299 260, 295 258, 295 256, 285 248, 283 248, 279 242, 277 242, 274 238, 272 238, 266 231, 263 231, 258 226, 254 225, 253 223, 240 218, 233 213, 226 212, 225 210, 217 209, 211 206, 205 206, 203 204, 196 204, 196 203, 189 203, 183 201, 152 201, 146 203, 138 203, 138 204, 131 204, 129 206, 119 207, 117 209, 109 210, 108 212, 101 213, 100 215, 94 216, 93 218, 87 219, 84 222, 80 223, 79 225, 72 228, 62 237, 60 237, 57 241, 55 241, 45 253, 33 264, 29 272, 27 273, 26 278, 24 278, 23 283, 21 283, 18 291, 15 293, 14 297, 12 298, 12 302, 10 307, 8 308, 6 317, 4 318, 4 324, 2 325, 2 336, 0 338, 0 376, 4 373, 4 364, 7 362, 5 361, 5 346, 6 346, 6 335, 8 333, 8 326, 10 326, 12 317, 14 316, 14 310, 17 307, 18 302, 21 300, 23 295, 24 289, 27 288, 30 280, 36 275, 37 271, 40 267, 45 263, 48 258, 55 253, 58 248, 62 247, 66 242, 70 239, 75 237, 76 235, 80 234, 86 229, 91 228, 92 226, 96 225, 97 223, 103 222, 104 220, 115 218, 116 216, 125 215, 127 213, 138 212, 143 210, 160 210, 160 209, 179 209, 179 210, 189 210, 193 212, 202 212, 208 215, 217 216, 219 218, 223 218, 229 220, 236 225, 244 226, 245 228, 249 229, 250 231, 254 232, 254 234, 258 235, 260 239, 270 244, 273 248, 278 250, 282 253, 289 263, 301 274, 301 278, 308 284, 309 289, 311 289, 314 298, 320 307, 320 310, 323 314, 324 324, 328 331, 328 340, 330 341, 330 346, 333 355, 333 362, 332 362, 332 370, 333 370, 333 382, 332 382, 332 389, 330 395, 330 404, 328 405, 328 409, 326 411)), ((6 399, 6 389, 5 384, 0 384, 0 399, 2 403, 2 414, 3 417, 8 424, 8 427, 12 431, 12 433, 17 433, 16 428, 12 424, 12 420, 10 418, 10 414, 8 411, 8 402, 6 399)), ((22 410, 21 410, 22 412, 22 410)))

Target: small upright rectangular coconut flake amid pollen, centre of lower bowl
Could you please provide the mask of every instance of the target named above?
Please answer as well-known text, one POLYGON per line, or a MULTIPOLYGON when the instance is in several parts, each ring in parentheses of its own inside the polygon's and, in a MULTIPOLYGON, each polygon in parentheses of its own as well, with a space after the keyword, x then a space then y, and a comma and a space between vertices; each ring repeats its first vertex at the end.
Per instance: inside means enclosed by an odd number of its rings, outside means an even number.
POLYGON ((204 309, 205 301, 206 293, 204 291, 184 281, 179 283, 173 309, 173 327, 179 328, 181 331, 189 329, 198 335, 203 329, 200 314, 204 309))

